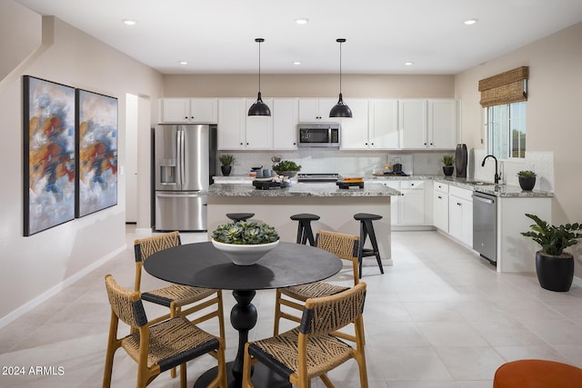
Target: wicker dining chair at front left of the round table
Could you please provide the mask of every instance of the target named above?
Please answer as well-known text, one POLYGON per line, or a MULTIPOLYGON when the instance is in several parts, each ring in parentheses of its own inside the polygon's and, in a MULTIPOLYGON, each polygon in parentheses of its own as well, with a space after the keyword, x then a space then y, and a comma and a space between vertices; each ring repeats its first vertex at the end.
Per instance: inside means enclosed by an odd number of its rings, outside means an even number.
POLYGON ((146 387, 160 373, 180 365, 180 387, 186 388, 186 362, 210 354, 218 362, 216 378, 209 387, 226 388, 225 342, 206 333, 184 316, 152 324, 147 322, 140 293, 115 283, 111 274, 105 276, 105 288, 111 304, 111 322, 105 355, 103 387, 111 386, 115 351, 123 347, 137 363, 138 388, 146 387), (137 331, 117 338, 119 321, 137 331))

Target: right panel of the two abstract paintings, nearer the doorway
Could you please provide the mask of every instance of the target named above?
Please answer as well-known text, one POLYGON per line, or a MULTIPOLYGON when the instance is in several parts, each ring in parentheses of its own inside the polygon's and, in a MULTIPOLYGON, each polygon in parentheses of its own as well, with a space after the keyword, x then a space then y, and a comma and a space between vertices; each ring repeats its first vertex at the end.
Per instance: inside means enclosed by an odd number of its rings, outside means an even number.
POLYGON ((76 90, 77 197, 75 216, 117 204, 117 99, 76 90))

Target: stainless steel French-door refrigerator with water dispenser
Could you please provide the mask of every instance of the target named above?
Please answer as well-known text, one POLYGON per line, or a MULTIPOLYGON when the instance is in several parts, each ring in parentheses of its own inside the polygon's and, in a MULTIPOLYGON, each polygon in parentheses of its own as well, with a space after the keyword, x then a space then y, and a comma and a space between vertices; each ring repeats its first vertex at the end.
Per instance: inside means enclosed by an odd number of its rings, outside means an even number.
POLYGON ((157 231, 206 231, 216 125, 160 124, 154 134, 157 231))

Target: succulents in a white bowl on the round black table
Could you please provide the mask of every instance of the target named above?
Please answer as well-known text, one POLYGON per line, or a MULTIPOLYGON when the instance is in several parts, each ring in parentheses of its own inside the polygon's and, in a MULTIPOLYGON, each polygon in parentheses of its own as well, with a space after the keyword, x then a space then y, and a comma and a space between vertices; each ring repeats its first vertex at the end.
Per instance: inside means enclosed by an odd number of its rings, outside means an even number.
POLYGON ((212 244, 236 265, 256 264, 279 244, 273 226, 254 221, 221 224, 212 232, 212 244))

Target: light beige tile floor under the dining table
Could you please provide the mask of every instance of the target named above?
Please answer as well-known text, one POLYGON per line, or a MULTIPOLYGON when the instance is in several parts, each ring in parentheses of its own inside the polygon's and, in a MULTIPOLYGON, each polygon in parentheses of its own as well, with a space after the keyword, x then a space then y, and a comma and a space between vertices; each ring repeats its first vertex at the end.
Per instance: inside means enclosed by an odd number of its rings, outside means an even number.
MULTIPOLYGON (((134 282, 133 240, 127 249, 81 281, 0 329, 1 387, 97 387, 102 383, 109 322, 104 276, 134 282), (31 367, 46 367, 31 373, 31 367), (50 367, 53 367, 54 372, 50 367), (24 368, 25 375, 10 375, 24 368), (60 369, 59 369, 60 368, 60 369), (62 372, 62 373, 60 373, 62 372)), ((182 234, 184 243, 206 234, 182 234)), ((497 274, 476 254, 437 232, 394 232, 394 265, 380 275, 366 259, 366 358, 372 388, 490 388, 507 361, 541 358, 582 367, 582 287, 553 293, 535 275, 497 274)), ((143 289, 161 281, 144 275, 143 289)), ((331 281, 350 284, 346 274, 331 281)), ((6 296, 6 295, 5 295, 6 296)), ((225 293, 226 318, 234 298, 225 293)), ((259 320, 250 339, 271 334, 274 292, 256 294, 259 320)), ((165 310, 146 304, 150 317, 165 310)), ((203 324, 217 333, 216 323, 203 324)), ((236 353, 236 331, 226 320, 226 358, 236 353)), ((188 386, 215 361, 188 364, 188 386)), ((135 363, 115 355, 113 386, 135 386, 135 363)), ((330 374, 338 388, 359 386, 356 363, 330 374)), ((177 387, 160 375, 152 387, 177 387)), ((323 387, 317 381, 315 387, 323 387)))

